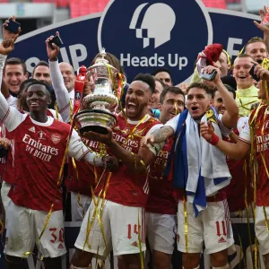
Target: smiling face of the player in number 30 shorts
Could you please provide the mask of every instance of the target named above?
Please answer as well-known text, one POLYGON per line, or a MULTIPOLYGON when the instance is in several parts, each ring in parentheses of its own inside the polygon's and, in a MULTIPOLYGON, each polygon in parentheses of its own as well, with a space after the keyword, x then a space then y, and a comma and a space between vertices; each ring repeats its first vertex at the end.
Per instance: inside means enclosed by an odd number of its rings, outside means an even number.
POLYGON ((47 113, 49 93, 45 86, 39 84, 30 85, 25 93, 26 104, 30 113, 47 113))

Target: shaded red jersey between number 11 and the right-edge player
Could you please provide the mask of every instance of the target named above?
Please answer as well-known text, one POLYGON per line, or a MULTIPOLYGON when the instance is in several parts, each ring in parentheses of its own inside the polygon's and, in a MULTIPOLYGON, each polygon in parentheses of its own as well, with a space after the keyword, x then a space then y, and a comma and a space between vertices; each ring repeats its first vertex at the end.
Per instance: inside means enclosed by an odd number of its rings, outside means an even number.
MULTIPOLYGON (((240 128, 241 126, 238 125, 240 128)), ((233 130, 235 134, 239 135, 238 128, 233 130)), ((223 137, 223 140, 232 143, 230 138, 223 137)), ((246 208, 245 191, 247 188, 247 204, 253 202, 254 189, 252 187, 252 177, 249 170, 248 158, 244 160, 232 160, 227 157, 227 164, 230 169, 230 185, 225 187, 227 202, 229 204, 230 212, 238 212, 246 208)))

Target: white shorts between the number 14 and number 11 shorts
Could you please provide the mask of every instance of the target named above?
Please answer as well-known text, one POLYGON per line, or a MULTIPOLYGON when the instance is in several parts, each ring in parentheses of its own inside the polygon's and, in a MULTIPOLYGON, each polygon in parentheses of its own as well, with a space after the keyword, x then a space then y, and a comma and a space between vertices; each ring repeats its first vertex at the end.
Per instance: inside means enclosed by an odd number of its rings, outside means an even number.
POLYGON ((176 235, 175 215, 146 213, 146 236, 151 249, 173 254, 176 235))

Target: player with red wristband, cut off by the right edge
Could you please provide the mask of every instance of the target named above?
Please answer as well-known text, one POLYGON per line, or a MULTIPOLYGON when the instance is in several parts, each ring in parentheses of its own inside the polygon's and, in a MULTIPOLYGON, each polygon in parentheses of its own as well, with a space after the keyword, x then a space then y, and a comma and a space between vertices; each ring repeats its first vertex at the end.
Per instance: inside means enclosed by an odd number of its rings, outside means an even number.
MULTIPOLYGON (((256 65, 254 74, 261 79, 258 96, 261 100, 260 106, 245 121, 244 128, 239 132, 237 143, 228 143, 217 139, 214 145, 225 155, 233 160, 241 160, 251 150, 253 154, 252 165, 254 177, 256 177, 256 218, 255 231, 259 242, 259 252, 265 257, 265 268, 269 269, 269 234, 267 231, 267 220, 269 217, 269 182, 267 170, 268 163, 268 98, 267 88, 269 82, 269 71, 260 65, 256 65), (252 130, 252 132, 250 131, 252 130)), ((202 136, 209 143, 215 137, 211 125, 202 122, 200 126, 202 136)))

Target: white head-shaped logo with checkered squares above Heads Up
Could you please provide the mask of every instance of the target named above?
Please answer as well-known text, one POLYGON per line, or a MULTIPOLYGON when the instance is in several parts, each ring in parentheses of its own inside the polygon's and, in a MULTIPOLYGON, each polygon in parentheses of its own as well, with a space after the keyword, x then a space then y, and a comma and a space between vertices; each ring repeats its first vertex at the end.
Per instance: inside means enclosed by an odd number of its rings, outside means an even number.
POLYGON ((171 39, 171 30, 176 24, 176 14, 168 4, 155 3, 150 6, 148 4, 137 6, 129 28, 135 30, 137 39, 143 39, 143 48, 150 46, 150 39, 154 39, 154 48, 158 48, 171 39), (146 11, 143 14, 143 22, 139 27, 138 19, 144 9, 146 11), (153 21, 152 14, 158 19, 153 21))

